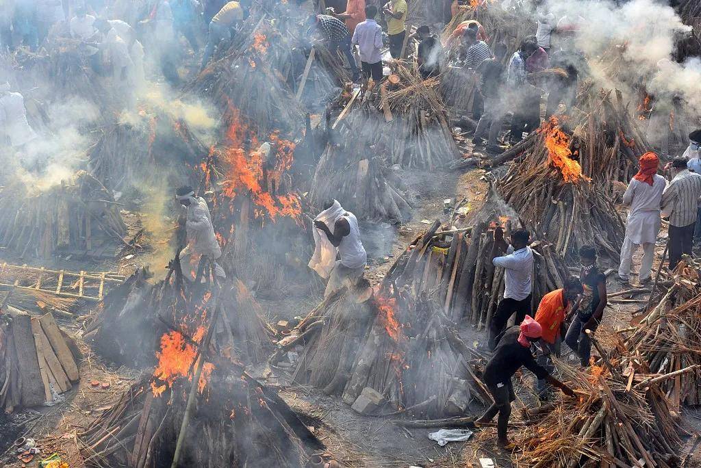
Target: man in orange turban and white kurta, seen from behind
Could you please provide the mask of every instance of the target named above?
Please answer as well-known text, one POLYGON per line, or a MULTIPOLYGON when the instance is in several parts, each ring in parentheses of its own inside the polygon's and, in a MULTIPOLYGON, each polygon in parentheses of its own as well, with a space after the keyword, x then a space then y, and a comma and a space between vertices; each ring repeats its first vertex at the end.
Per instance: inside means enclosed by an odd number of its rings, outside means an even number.
POLYGON ((658 156, 649 151, 640 157, 640 170, 630 181, 623 204, 629 206, 628 219, 625 223, 625 238, 620 249, 620 266, 618 279, 629 282, 633 254, 643 246, 643 259, 640 264, 638 282, 650 281, 655 256, 655 241, 660 233, 660 200, 667 185, 665 178, 659 175, 658 156))

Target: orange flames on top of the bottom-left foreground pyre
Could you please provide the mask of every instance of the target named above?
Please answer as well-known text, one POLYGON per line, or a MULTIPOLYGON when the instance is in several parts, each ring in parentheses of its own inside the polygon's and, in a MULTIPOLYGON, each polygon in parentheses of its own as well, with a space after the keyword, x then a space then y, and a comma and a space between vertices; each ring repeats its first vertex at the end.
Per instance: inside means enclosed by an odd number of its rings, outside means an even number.
MULTIPOLYGON (((193 339, 199 342, 204 334, 205 328, 200 326, 193 339)), ((166 388, 172 387, 177 378, 187 377, 189 380, 192 380, 189 370, 196 355, 195 347, 187 343, 181 333, 170 331, 163 334, 161 336, 161 352, 156 352, 158 366, 156 366, 154 371, 154 377, 162 384, 158 385, 155 381, 151 383, 151 391, 154 392, 154 397, 160 397, 166 388)), ((205 385, 207 385, 207 380, 209 380, 212 370, 214 370, 214 365, 205 362, 200 380, 197 383, 197 389, 200 393, 205 390, 205 385)))

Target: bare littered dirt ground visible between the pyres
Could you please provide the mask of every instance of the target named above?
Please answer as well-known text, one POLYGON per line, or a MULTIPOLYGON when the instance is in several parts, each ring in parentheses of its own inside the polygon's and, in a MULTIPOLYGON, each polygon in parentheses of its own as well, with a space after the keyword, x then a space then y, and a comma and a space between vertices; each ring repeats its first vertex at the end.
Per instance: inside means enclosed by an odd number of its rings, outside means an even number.
MULTIPOLYGON (((389 238, 388 226, 368 228, 368 232, 379 233, 376 235, 381 237, 381 241, 375 242, 375 256, 367 270, 367 277, 371 282, 377 282, 383 277, 393 258, 401 254, 409 242, 428 227, 427 222, 432 223, 435 219, 447 221, 450 214, 444 213, 445 199, 459 202, 465 198, 468 200, 470 212, 479 209, 488 188, 484 174, 484 170, 481 169, 470 170, 464 174, 436 175, 412 171, 403 173, 402 180, 414 193, 416 209, 409 222, 389 228, 389 232, 393 234, 389 238)), ((662 254, 663 242, 664 240, 658 245, 659 256, 662 254)), ((134 261, 135 259, 132 259, 132 262, 134 261)), ((639 265, 639 257, 635 261, 634 264, 639 265)), ((62 268, 68 267, 63 264, 62 268)), ((87 267, 83 264, 81 268, 87 267)), ((118 266, 107 263, 93 268, 114 270, 118 266)), ((622 289, 624 286, 615 282, 613 277, 615 275, 609 276, 608 290, 622 289)), ((319 282, 294 296, 277 300, 261 298, 259 302, 264 308, 266 319, 274 323, 278 319, 306 315, 308 310, 320 301, 321 294, 322 284, 319 282)), ((631 312, 636 306, 639 304, 610 305, 605 312, 606 317, 599 333, 606 334, 628 326, 631 312)), ((69 333, 80 336, 79 323, 63 321, 61 325, 69 333)), ((463 327, 461 336, 465 343, 475 347, 485 338, 483 332, 478 332, 470 326, 463 327)), ((0 419, 0 427, 3 427, 3 430, 0 434, 0 466, 23 466, 15 454, 7 450, 8 444, 19 436, 36 439, 42 456, 56 452, 70 467, 82 466, 78 462, 76 434, 89 427, 91 422, 109 408, 118 399, 118 395, 138 377, 136 371, 123 367, 117 369, 102 362, 80 339, 78 341, 84 355, 80 369, 81 381, 65 394, 64 403, 1 417, 3 419, 0 419), (93 382, 109 383, 109 388, 103 390, 101 386, 93 387, 93 382)), ((479 467, 480 458, 491 458, 496 467, 512 466, 512 454, 496 447, 494 429, 478 432, 470 441, 449 443, 440 447, 428 439, 428 433, 437 429, 409 430, 395 425, 392 418, 359 415, 337 397, 328 397, 312 387, 292 385, 289 375, 280 369, 263 367, 250 371, 261 382, 277 389, 280 397, 299 413, 308 426, 314 428, 315 434, 327 445, 328 450, 348 467, 479 467)), ((528 373, 517 382, 519 394, 526 404, 537 404, 532 387, 533 377, 528 373)), ((472 406, 470 413, 477 415, 482 410, 479 406, 472 406)), ((690 428, 701 429, 701 412, 685 410, 683 417, 690 428)), ((522 427, 517 411, 512 413, 512 420, 511 430, 515 433, 522 427)), ((696 457, 701 458, 698 454, 696 457)), ((701 466, 698 460, 694 463, 688 466, 701 466)), ((36 465, 32 463, 27 466, 36 465)))

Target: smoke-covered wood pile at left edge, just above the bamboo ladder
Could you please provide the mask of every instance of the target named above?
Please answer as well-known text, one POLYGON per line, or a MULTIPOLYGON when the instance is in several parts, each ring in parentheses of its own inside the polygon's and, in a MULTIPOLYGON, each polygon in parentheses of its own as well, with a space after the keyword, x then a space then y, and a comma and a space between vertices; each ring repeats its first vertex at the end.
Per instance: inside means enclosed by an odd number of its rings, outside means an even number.
POLYGON ((128 242, 119 205, 88 172, 43 191, 15 182, 0 197, 0 246, 21 257, 113 258, 128 242))

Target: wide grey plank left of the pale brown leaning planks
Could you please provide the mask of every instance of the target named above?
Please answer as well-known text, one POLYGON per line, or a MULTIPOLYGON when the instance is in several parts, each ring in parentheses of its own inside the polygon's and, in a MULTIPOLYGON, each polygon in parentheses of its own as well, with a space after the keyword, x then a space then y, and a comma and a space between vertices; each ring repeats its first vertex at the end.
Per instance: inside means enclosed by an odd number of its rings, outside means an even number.
POLYGON ((41 388, 41 371, 39 371, 39 360, 36 357, 31 317, 26 312, 11 306, 8 306, 7 310, 12 317, 12 333, 18 359, 20 404, 27 407, 38 406, 46 399, 41 388))

